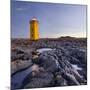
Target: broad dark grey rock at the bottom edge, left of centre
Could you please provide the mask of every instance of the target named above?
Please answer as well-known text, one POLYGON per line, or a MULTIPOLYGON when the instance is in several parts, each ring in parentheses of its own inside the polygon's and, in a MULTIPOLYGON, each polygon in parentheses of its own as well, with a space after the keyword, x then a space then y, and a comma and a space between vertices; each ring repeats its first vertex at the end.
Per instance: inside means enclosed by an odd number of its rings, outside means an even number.
POLYGON ((28 81, 28 84, 26 84, 24 88, 50 87, 53 85, 53 74, 49 72, 40 72, 36 76, 29 78, 28 81))

